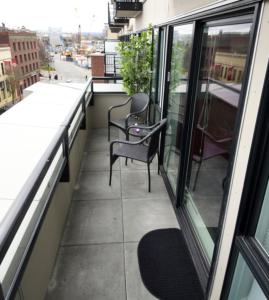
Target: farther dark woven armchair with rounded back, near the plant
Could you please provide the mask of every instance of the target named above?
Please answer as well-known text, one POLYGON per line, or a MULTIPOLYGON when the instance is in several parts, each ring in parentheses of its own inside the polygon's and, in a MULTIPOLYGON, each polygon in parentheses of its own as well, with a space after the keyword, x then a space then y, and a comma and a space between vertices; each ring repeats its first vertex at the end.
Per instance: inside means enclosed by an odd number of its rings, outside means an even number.
MULTIPOLYGON (((129 126, 135 123, 145 123, 147 118, 147 108, 149 106, 149 96, 145 93, 137 93, 127 99, 126 102, 111 106, 108 109, 108 141, 110 141, 110 126, 116 126, 126 135, 126 130, 129 126), (112 109, 127 105, 131 101, 130 113, 123 119, 111 120, 112 109)), ((127 136, 127 135, 126 135, 127 136)))

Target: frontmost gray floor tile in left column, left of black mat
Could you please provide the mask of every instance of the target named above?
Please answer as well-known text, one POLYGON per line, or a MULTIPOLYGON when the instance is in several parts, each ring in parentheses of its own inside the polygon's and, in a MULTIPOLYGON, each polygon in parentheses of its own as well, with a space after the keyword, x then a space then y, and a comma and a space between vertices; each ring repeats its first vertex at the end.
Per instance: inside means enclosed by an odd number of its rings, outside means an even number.
POLYGON ((62 247, 46 299, 126 299, 123 245, 62 247))

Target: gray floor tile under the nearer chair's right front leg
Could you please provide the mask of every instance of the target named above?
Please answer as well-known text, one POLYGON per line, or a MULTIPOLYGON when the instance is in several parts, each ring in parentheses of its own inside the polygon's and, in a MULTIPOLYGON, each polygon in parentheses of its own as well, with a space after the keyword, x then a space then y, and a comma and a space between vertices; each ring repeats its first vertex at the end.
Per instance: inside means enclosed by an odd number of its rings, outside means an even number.
POLYGON ((167 191, 160 175, 156 170, 151 171, 151 192, 148 192, 147 171, 121 172, 122 198, 160 198, 168 197, 167 191))

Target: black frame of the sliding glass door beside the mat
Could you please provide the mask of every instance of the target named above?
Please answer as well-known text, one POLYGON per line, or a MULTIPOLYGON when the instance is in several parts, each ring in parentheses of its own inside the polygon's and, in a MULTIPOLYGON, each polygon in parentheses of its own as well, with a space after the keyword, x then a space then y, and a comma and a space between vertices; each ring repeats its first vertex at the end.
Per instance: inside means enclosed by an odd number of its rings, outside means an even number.
MULTIPOLYGON (((185 124, 187 128, 183 129, 183 137, 182 137, 182 143, 185 145, 182 149, 184 152, 184 158, 182 159, 182 162, 180 164, 180 171, 178 175, 178 182, 177 182, 177 194, 173 195, 172 188, 170 186, 170 183, 168 181, 168 178, 165 174, 164 168, 162 166, 163 162, 163 153, 164 153, 164 135, 161 138, 161 147, 160 147, 160 159, 161 159, 161 173, 167 188, 167 191, 169 193, 169 196, 172 200, 172 203, 174 205, 174 209, 180 224, 180 227, 182 228, 183 235, 185 237, 185 240, 188 244, 188 247, 190 249, 190 252, 192 254, 193 259, 195 260, 195 265, 197 267, 197 273, 199 276, 199 279, 202 284, 202 288, 206 295, 210 292, 210 286, 213 282, 214 277, 214 269, 217 261, 217 256, 219 252, 220 247, 220 240, 221 235, 219 234, 218 239, 215 243, 214 253, 212 257, 211 265, 208 264, 207 259, 205 258, 204 253, 201 252, 201 249, 199 248, 199 241, 197 239, 196 233, 194 232, 194 229, 191 226, 190 219, 187 216, 187 212, 183 207, 183 193, 185 188, 185 182, 182 180, 182 178, 186 177, 187 167, 186 164, 188 164, 188 147, 191 142, 191 135, 190 132, 192 130, 192 113, 194 111, 194 105, 195 105, 195 96, 196 96, 196 90, 197 90, 197 84, 198 84, 198 72, 199 70, 199 64, 200 64, 200 55, 201 55, 201 39, 202 39, 202 31, 205 26, 205 24, 216 24, 216 26, 219 26, 220 24, 226 24, 225 20, 228 20, 229 24, 236 24, 238 22, 242 22, 243 19, 247 19, 248 16, 251 16, 251 22, 253 24, 250 34, 250 40, 249 40, 249 47, 248 47, 248 53, 247 53, 247 61, 245 65, 245 74, 249 74, 251 63, 252 63, 252 57, 253 57, 253 49, 254 49, 254 42, 256 37, 256 32, 258 28, 258 20, 260 15, 260 5, 261 1, 242 1, 241 4, 235 3, 231 5, 225 6, 225 9, 223 6, 213 9, 211 11, 198 13, 196 15, 191 15, 189 17, 184 17, 182 19, 173 20, 172 22, 165 23, 169 29, 168 33, 168 41, 166 43, 166 65, 165 65, 165 78, 163 79, 163 85, 164 88, 164 102, 163 102, 163 117, 166 117, 166 111, 167 111, 167 105, 168 105, 168 95, 169 95, 169 75, 170 72, 170 64, 171 64, 171 42, 173 38, 173 33, 171 32, 171 27, 173 26, 179 26, 188 24, 191 22, 194 22, 195 29, 194 29, 194 35, 193 35, 193 51, 191 54, 191 66, 189 70, 189 77, 191 78, 189 82, 188 87, 188 95, 187 95, 187 106, 186 106, 186 116, 189 118, 186 119, 185 124), (221 22, 219 22, 221 20, 221 22), (167 51, 169 50, 169 51, 167 51), (188 146, 187 146, 188 145, 188 146), (181 180, 181 182, 180 182, 181 180)), ((245 22, 248 22, 249 20, 246 20, 245 22)), ((160 26, 164 26, 164 24, 161 24, 160 26)), ((238 106, 238 112, 237 112, 237 118, 235 123, 235 134, 234 134, 234 142, 231 145, 231 153, 233 153, 233 158, 230 161, 230 166, 228 169, 228 177, 229 180, 227 182, 227 187, 230 186, 230 179, 231 174, 234 166, 234 153, 236 150, 236 146, 238 143, 238 137, 239 137, 239 129, 241 125, 242 120, 242 114, 243 109, 245 106, 245 98, 246 98, 246 90, 247 90, 247 84, 248 84, 249 78, 248 76, 244 76, 242 79, 242 89, 240 93, 240 99, 239 99, 239 106, 238 106)), ((226 193, 224 195, 225 199, 228 197, 228 188, 226 190, 226 193)), ((225 218, 225 203, 226 200, 223 200, 222 207, 220 211, 220 217, 219 217, 219 226, 218 228, 221 230, 223 228, 224 218, 225 218)))

